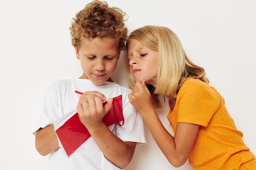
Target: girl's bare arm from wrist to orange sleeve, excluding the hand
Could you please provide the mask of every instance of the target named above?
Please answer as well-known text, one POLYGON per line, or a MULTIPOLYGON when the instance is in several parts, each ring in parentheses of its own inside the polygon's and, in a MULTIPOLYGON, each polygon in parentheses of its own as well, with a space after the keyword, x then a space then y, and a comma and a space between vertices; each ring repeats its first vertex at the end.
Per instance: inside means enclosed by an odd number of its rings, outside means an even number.
POLYGON ((154 115, 151 118, 142 116, 150 133, 171 165, 176 168, 182 166, 189 157, 199 125, 178 122, 173 137, 164 128, 157 114, 154 115))

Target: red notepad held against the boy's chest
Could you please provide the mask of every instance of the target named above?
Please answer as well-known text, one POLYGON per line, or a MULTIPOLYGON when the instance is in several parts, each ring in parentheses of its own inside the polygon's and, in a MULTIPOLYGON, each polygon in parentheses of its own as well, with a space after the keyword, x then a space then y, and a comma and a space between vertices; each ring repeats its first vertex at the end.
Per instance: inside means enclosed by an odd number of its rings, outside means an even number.
MULTIPOLYGON (((103 102, 103 105, 106 104, 107 101, 103 102)), ((65 123, 58 127, 58 125, 62 124, 61 120, 58 120, 58 124, 55 125, 55 132, 61 141, 61 144, 69 157, 81 144, 83 144, 91 135, 88 132, 87 128, 81 123, 78 113, 76 110, 74 112, 69 113, 72 115, 69 119, 69 115, 65 115, 63 117, 63 121, 65 123)), ((106 126, 110 126, 112 124, 118 124, 122 126, 124 124, 124 115, 123 115, 123 105, 122 105, 122 95, 113 98, 113 106, 103 117, 102 121, 106 124, 106 126), (122 124, 120 124, 122 121, 122 124)))

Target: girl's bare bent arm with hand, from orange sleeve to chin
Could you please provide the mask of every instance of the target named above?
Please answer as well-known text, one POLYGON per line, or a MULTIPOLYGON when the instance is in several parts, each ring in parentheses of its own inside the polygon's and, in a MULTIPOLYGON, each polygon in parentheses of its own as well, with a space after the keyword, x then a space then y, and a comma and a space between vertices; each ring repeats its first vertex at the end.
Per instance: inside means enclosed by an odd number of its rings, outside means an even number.
POLYGON ((137 82, 128 97, 131 104, 141 113, 153 138, 168 161, 174 167, 182 166, 189 157, 199 125, 178 122, 173 137, 159 120, 153 107, 152 97, 144 82, 137 82))

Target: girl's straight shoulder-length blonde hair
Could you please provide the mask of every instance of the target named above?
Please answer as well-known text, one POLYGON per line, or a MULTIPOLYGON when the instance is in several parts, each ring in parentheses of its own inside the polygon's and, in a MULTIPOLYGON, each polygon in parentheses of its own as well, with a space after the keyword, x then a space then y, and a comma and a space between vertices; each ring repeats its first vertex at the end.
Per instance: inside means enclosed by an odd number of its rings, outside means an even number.
POLYGON ((207 84, 208 79, 204 68, 195 65, 184 52, 177 35, 164 26, 144 26, 130 33, 124 52, 124 64, 128 77, 129 88, 133 88, 135 80, 130 72, 127 58, 127 45, 135 38, 151 50, 158 51, 156 87, 148 86, 155 108, 162 108, 161 95, 177 97, 177 93, 188 78, 200 79, 207 84))

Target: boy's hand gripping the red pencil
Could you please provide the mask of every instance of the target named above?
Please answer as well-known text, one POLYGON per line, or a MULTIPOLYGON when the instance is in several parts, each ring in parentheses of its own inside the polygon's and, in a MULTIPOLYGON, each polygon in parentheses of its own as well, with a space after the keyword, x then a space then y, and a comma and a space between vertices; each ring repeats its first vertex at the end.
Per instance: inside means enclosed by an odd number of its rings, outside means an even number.
MULTIPOLYGON (((91 94, 89 94, 90 96, 91 94)), ((102 118, 110 108, 112 108, 113 99, 108 99, 103 106, 102 98, 99 96, 88 97, 81 96, 76 106, 79 119, 90 132, 91 129, 100 127, 103 124, 102 118)))

